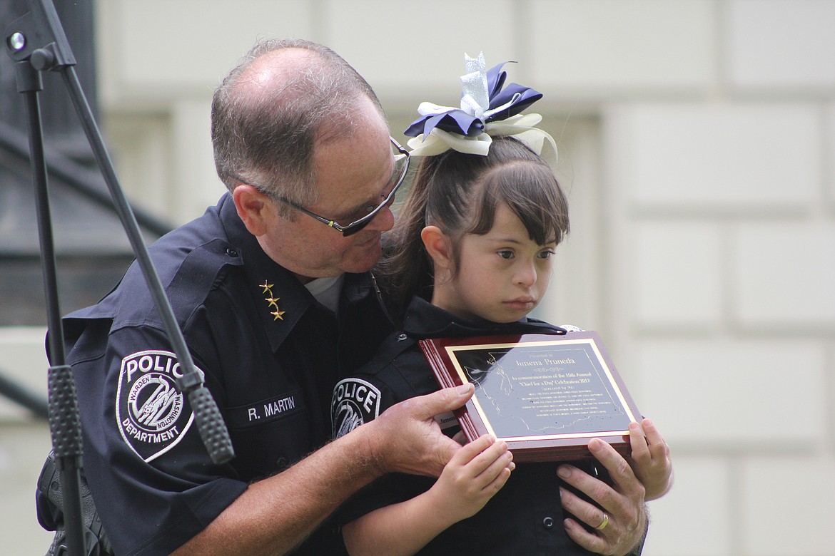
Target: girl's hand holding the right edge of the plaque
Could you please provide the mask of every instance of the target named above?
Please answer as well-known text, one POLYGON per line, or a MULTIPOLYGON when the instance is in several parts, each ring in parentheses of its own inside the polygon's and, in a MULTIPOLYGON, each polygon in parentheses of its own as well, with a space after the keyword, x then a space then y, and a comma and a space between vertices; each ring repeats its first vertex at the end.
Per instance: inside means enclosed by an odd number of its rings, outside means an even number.
POLYGON ((650 419, 630 423, 629 435, 632 446, 631 465, 635 476, 644 485, 645 498, 655 500, 664 496, 673 484, 673 463, 670 447, 650 419))

